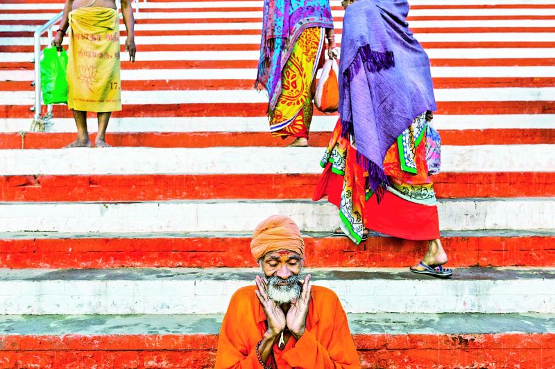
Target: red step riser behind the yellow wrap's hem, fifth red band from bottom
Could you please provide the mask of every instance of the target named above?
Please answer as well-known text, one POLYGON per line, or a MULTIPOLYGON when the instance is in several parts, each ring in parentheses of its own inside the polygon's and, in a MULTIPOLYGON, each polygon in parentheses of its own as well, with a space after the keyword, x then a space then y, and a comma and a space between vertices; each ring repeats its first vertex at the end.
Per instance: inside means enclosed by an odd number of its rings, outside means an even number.
MULTIPOLYGON (((123 105, 122 111, 114 111, 112 117, 176 117, 176 116, 265 116, 265 103, 219 103, 219 104, 145 104, 123 105)), ((46 107, 44 107, 46 112, 46 107)), ((452 101, 438 102, 436 114, 555 114, 555 101, 452 101)), ((53 109, 56 118, 71 118, 65 105, 53 109)), ((314 111, 314 115, 323 115, 314 111)), ((29 118, 33 114, 28 105, 0 105, 0 118, 29 118)))

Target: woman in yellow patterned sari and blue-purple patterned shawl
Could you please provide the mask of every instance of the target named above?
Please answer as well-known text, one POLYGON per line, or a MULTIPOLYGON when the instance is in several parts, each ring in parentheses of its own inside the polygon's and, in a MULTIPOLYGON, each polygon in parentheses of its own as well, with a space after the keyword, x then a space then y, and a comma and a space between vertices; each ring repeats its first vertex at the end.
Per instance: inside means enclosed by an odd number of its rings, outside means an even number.
POLYGON ((255 87, 268 92, 273 136, 295 137, 308 146, 316 71, 335 46, 329 0, 264 0, 262 42, 255 87))

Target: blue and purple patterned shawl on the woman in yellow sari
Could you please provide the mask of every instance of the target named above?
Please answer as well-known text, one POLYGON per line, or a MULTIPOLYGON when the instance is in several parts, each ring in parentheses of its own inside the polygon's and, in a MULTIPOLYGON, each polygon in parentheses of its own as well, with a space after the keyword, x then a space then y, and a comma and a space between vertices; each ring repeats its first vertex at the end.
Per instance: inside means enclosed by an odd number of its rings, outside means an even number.
POLYGON ((268 109, 274 109, 282 89, 282 69, 303 30, 334 28, 329 0, 264 0, 262 42, 256 89, 266 88, 268 109))

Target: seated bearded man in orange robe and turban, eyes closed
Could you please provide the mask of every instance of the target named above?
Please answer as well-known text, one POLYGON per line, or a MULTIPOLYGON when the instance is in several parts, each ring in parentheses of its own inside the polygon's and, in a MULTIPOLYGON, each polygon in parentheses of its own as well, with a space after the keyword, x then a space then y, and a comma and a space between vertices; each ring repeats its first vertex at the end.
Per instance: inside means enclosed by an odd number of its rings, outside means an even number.
POLYGON ((305 242, 289 217, 255 230, 250 251, 264 276, 232 296, 223 318, 216 369, 360 368, 347 316, 330 289, 300 280, 305 242))

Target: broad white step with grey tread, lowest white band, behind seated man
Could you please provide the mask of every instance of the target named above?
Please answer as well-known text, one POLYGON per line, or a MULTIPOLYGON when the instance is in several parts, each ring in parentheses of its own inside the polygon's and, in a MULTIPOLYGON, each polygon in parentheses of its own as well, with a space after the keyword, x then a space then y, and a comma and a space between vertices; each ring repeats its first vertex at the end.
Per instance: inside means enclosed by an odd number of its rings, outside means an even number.
MULTIPOLYGON (((1 269, 0 314, 222 314, 259 269, 1 269)), ((554 269, 307 269, 348 313, 555 313, 554 269)))

